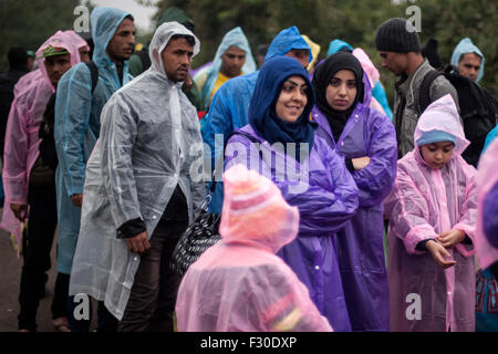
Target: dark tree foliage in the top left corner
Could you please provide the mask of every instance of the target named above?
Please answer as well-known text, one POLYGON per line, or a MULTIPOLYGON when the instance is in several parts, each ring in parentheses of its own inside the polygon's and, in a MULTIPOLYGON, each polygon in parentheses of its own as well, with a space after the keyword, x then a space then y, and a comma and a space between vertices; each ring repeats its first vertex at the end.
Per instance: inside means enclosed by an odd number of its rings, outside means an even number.
POLYGON ((13 45, 37 51, 58 30, 72 30, 79 0, 0 0, 0 72, 8 70, 13 45))

